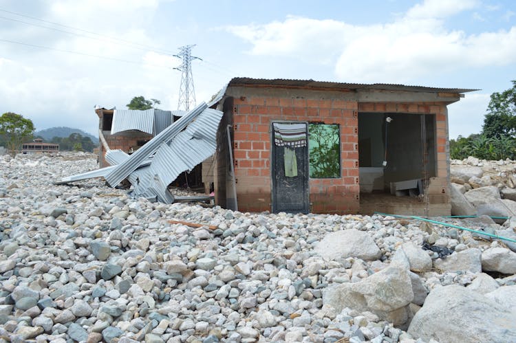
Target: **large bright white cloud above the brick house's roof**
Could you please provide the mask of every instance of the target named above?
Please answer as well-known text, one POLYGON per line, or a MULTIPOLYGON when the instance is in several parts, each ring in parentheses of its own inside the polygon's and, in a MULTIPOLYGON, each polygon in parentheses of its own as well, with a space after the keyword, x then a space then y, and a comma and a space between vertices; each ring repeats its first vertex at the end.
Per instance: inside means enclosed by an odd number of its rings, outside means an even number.
POLYGON ((516 62, 516 27, 466 34, 444 25, 444 18, 477 5, 427 0, 385 25, 289 16, 227 30, 252 44, 250 54, 334 63, 336 76, 348 82, 417 82, 421 76, 516 62))

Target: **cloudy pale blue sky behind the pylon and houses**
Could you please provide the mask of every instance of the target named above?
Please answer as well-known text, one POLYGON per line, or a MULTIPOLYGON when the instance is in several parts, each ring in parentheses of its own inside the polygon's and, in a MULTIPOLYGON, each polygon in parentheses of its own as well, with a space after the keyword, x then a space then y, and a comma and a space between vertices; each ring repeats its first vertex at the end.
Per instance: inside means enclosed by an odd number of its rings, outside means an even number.
POLYGON ((185 45, 197 102, 239 76, 480 89, 455 138, 516 79, 516 1, 0 0, 0 113, 98 135, 95 106, 178 109, 185 45))

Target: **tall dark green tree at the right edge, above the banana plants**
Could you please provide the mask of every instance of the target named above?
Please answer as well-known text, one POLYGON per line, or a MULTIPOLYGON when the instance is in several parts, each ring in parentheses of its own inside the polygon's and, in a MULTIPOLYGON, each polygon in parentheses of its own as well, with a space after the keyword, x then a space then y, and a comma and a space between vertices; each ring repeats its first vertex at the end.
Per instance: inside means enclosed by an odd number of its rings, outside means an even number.
POLYGON ((490 138, 516 135, 516 80, 513 87, 491 94, 482 133, 490 138))

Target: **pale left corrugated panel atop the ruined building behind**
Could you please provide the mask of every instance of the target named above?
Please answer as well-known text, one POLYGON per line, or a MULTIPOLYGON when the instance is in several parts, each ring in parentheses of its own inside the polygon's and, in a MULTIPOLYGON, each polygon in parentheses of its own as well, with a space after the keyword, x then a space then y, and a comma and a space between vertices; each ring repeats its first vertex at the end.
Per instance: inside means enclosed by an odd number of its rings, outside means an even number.
POLYGON ((154 109, 147 109, 146 111, 116 109, 113 113, 111 135, 127 130, 139 130, 152 135, 154 131, 154 109))

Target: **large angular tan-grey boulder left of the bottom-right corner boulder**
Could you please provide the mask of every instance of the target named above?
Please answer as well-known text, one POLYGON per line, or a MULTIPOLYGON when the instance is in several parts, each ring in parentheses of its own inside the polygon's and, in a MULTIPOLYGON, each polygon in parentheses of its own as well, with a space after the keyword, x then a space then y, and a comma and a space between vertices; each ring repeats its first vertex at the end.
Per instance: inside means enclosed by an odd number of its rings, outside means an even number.
POLYGON ((407 322, 407 305, 413 300, 409 271, 398 265, 363 278, 358 283, 343 283, 327 287, 323 305, 340 313, 345 307, 356 311, 370 311, 379 318, 402 325, 407 322))

